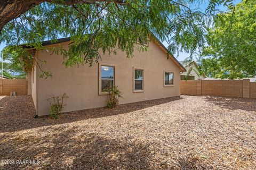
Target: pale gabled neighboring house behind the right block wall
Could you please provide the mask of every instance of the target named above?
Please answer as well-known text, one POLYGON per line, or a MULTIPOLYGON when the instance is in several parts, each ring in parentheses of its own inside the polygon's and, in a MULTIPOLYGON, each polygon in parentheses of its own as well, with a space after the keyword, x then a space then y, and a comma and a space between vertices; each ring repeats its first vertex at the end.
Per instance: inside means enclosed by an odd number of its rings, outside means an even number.
POLYGON ((183 72, 180 74, 180 80, 204 80, 205 76, 199 74, 198 71, 198 65, 196 64, 195 61, 193 62, 185 62, 185 61, 180 61, 180 63, 185 67, 187 72, 183 72), (188 71, 191 70, 190 74, 187 76, 188 71), (187 78, 186 78, 187 76, 187 78))

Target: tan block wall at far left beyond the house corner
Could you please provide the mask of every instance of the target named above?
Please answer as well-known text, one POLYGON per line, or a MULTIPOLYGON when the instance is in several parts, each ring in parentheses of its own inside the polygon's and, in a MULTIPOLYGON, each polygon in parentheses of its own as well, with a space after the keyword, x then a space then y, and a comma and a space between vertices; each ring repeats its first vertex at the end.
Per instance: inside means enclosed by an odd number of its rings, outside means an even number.
POLYGON ((0 79, 0 95, 9 96, 11 91, 16 95, 28 95, 27 79, 0 79))

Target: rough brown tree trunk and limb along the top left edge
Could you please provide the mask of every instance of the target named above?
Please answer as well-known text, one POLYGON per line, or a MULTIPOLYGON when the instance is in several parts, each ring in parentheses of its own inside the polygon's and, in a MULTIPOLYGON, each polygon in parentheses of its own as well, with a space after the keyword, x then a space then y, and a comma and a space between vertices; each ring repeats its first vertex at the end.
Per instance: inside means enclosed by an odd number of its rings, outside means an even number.
MULTIPOLYGON (((0 1, 0 33, 8 22, 18 18, 22 13, 30 10, 34 6, 43 2, 52 2, 52 0, 1 0, 0 1)), ((97 2, 115 2, 118 4, 124 3, 122 0, 65 0, 64 4, 95 4, 97 2)))

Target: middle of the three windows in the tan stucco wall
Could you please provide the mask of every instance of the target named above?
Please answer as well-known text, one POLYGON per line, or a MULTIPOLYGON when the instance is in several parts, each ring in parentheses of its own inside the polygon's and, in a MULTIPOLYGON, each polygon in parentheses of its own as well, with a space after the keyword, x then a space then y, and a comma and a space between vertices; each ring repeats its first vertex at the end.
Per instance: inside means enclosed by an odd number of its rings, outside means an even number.
POLYGON ((143 70, 142 69, 133 69, 133 91, 142 92, 143 88, 143 70))

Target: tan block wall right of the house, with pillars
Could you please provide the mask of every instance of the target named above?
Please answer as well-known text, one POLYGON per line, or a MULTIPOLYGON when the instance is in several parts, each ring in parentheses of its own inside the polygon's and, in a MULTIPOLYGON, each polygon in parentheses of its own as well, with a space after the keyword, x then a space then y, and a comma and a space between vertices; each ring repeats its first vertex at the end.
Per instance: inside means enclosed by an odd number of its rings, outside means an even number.
POLYGON ((245 80, 181 80, 182 95, 256 98, 256 82, 245 80))

